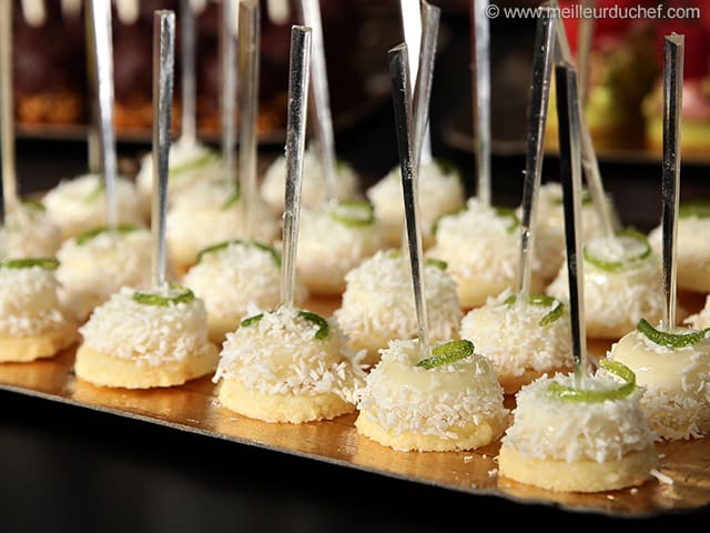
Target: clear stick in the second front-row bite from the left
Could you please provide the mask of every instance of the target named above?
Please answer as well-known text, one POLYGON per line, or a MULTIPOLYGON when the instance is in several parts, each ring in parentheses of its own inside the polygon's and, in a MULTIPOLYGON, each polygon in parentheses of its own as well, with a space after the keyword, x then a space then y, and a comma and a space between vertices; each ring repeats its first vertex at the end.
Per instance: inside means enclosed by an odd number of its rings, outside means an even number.
POLYGON ((173 76, 175 64, 175 13, 153 13, 153 238, 152 282, 166 288, 165 217, 168 211, 168 165, 171 143, 173 76))

